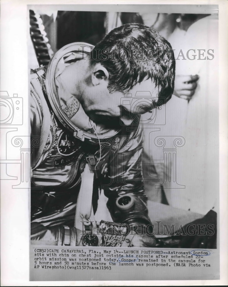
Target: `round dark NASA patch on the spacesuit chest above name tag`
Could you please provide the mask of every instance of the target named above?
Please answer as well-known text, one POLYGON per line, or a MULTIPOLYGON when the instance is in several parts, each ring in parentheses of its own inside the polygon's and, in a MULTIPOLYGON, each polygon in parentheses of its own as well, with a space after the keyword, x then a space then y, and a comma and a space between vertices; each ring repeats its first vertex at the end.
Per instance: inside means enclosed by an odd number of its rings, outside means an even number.
POLYGON ((78 141, 72 139, 65 131, 63 131, 58 140, 57 150, 63 156, 74 154, 81 146, 78 141))

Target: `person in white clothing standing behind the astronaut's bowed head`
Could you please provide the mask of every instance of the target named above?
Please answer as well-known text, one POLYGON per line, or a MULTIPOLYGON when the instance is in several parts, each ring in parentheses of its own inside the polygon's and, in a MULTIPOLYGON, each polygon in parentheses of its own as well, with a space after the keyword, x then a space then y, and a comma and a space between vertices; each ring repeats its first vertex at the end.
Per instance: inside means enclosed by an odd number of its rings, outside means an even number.
MULTIPOLYGON (((145 181, 160 185, 154 188, 157 199, 165 194, 166 203, 204 216, 197 224, 213 224, 213 236, 183 237, 181 247, 215 247, 219 192, 219 135, 218 135, 218 17, 206 16, 188 28, 187 32, 175 28, 167 40, 176 59, 174 95, 166 104, 166 125, 162 126, 162 111, 157 110, 154 130, 145 128, 145 157, 158 160, 162 148, 154 145, 157 136, 182 136, 185 144, 177 148, 176 188, 174 181, 163 181, 166 171, 172 173, 172 159, 167 165, 154 164, 145 181), (159 125, 160 121, 160 125, 159 125), (168 168, 168 169, 166 169, 168 168), (183 186, 185 186, 183 188, 183 186)), ((144 115, 144 117, 148 117, 144 115)), ((171 138, 171 137, 170 137, 171 138)), ((153 199, 151 188, 147 195, 153 199), (151 195, 151 197, 150 197, 151 195)), ((155 197, 156 199, 156 197, 155 197)))

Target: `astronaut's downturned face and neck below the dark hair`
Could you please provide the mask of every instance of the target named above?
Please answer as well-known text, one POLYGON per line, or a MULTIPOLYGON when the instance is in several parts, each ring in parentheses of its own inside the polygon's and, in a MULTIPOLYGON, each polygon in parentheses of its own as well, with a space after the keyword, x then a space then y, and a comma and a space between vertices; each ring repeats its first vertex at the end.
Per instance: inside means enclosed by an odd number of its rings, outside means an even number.
MULTIPOLYGON (((100 77, 100 76, 99 76, 100 77)), ((136 84, 126 94, 109 93, 108 81, 93 81, 95 84, 86 86, 81 97, 81 104, 86 114, 96 123, 121 121, 125 125, 132 123, 134 115, 150 111, 157 101, 157 89, 151 79, 136 84), (153 98, 154 97, 154 98, 153 98)))

